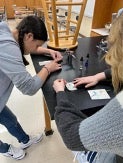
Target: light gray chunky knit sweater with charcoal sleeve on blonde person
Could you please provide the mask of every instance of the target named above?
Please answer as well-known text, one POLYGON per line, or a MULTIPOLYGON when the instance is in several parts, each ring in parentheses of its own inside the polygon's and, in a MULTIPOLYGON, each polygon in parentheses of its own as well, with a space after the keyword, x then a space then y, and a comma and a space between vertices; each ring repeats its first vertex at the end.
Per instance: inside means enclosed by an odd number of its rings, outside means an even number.
POLYGON ((112 152, 123 156, 123 91, 89 118, 57 93, 55 121, 66 146, 71 150, 112 152))

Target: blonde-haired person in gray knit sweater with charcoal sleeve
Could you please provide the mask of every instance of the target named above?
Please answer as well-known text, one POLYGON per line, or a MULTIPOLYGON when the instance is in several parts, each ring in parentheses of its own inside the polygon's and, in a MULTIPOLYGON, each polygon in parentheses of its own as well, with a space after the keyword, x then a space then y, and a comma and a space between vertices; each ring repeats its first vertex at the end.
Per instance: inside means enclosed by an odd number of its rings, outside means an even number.
POLYGON ((112 83, 117 95, 100 111, 86 118, 68 100, 64 91, 65 81, 57 79, 53 84, 57 98, 55 121, 70 150, 123 156, 123 14, 112 24, 108 45, 105 59, 111 66, 112 83))

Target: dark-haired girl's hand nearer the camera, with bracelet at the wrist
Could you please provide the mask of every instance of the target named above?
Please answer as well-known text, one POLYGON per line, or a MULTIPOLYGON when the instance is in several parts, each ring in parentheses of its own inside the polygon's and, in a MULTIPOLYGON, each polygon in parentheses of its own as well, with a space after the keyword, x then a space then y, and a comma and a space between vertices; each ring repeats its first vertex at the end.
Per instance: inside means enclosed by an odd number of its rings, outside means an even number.
POLYGON ((58 61, 59 61, 59 60, 53 60, 53 61, 51 61, 50 63, 47 63, 47 64, 44 66, 44 67, 47 68, 49 74, 50 74, 51 72, 54 72, 54 71, 57 71, 57 70, 62 69, 61 64, 58 64, 58 61))

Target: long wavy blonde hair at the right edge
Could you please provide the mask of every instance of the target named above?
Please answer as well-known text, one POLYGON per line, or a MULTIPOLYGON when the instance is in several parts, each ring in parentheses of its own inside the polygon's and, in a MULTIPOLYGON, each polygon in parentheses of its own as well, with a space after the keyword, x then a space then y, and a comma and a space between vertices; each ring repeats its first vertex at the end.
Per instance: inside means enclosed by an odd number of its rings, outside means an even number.
POLYGON ((111 66, 112 83, 115 92, 118 93, 123 83, 123 14, 112 23, 108 46, 105 60, 111 66))

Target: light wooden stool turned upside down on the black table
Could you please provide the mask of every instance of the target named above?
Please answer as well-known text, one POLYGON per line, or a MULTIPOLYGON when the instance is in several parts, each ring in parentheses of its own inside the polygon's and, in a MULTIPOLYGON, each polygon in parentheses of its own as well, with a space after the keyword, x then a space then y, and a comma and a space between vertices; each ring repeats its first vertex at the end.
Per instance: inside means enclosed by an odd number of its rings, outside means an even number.
MULTIPOLYGON (((44 9, 45 21, 49 34, 49 41, 47 43, 48 47, 53 49, 72 49, 77 47, 78 34, 80 30, 80 25, 84 15, 84 10, 86 7, 87 0, 82 0, 80 2, 72 0, 42 0, 42 6, 44 9), (67 6, 68 13, 65 18, 64 27, 62 30, 59 28, 58 23, 60 23, 59 16, 57 15, 57 10, 59 6, 67 6), (79 17, 78 20, 72 19, 72 7, 79 6, 79 17), (52 9, 52 12, 49 12, 52 9), (70 26, 75 25, 75 32, 71 34, 70 26)), ((63 19, 62 19, 63 21, 63 19)))

